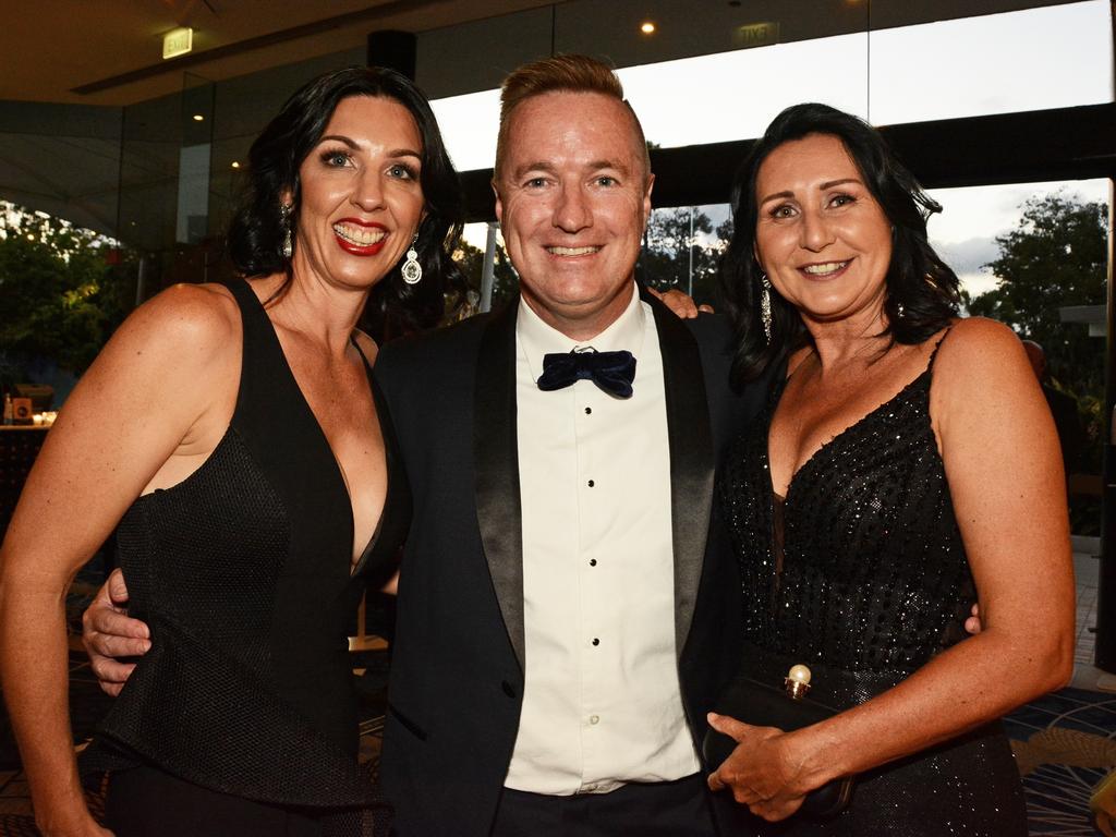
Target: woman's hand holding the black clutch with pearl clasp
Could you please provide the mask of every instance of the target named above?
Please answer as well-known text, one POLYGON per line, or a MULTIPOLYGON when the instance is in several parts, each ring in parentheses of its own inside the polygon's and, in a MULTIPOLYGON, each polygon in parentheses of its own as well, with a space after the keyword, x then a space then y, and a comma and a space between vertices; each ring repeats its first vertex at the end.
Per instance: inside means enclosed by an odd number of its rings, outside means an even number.
POLYGON ((786 819, 799 809, 807 793, 826 782, 821 776, 807 777, 792 734, 712 712, 709 723, 737 742, 732 754, 710 775, 710 789, 730 789, 732 798, 757 817, 772 822, 786 819))

